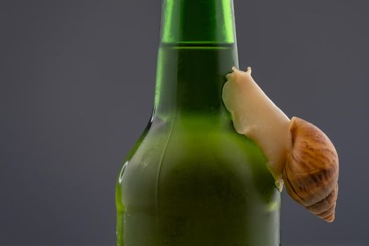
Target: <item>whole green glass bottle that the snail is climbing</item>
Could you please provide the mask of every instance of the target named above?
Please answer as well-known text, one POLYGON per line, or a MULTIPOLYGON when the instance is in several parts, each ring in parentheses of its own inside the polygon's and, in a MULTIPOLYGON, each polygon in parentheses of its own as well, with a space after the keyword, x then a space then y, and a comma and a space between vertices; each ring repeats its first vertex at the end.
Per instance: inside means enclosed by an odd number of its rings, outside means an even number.
POLYGON ((153 117, 117 179, 117 245, 280 245, 266 158, 221 101, 233 66, 232 0, 164 0, 153 117))

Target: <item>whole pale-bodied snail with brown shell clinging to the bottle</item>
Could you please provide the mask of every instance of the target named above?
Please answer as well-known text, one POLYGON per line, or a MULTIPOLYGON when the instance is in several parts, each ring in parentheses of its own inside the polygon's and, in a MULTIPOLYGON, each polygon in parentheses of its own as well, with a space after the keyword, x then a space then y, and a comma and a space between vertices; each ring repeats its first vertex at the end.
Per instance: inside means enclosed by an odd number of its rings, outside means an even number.
POLYGON ((321 129, 304 119, 289 119, 247 72, 232 68, 222 98, 239 134, 251 138, 266 156, 266 166, 293 200, 332 222, 338 192, 338 155, 321 129))

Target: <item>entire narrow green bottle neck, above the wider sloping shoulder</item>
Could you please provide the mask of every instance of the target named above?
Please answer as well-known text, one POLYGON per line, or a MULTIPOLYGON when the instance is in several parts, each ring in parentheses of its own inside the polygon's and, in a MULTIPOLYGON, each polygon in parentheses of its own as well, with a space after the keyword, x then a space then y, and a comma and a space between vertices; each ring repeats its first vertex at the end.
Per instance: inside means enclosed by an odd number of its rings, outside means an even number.
POLYGON ((226 117, 221 90, 233 66, 233 0, 164 0, 155 115, 226 117))

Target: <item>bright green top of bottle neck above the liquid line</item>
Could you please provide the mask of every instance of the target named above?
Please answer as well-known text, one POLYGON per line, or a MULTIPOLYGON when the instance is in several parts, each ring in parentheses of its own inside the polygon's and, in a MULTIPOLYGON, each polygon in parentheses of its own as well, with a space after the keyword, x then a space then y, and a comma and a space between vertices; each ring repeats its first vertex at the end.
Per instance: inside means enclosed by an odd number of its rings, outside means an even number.
POLYGON ((163 0, 163 43, 235 43, 233 0, 163 0))

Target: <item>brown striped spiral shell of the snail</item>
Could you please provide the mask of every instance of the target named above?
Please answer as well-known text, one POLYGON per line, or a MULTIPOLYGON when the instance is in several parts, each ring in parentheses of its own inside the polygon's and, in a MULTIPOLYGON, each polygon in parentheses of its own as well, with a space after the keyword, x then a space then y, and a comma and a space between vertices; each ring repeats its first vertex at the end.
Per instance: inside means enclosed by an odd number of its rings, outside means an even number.
POLYGON ((325 221, 335 219, 338 156, 321 129, 304 119, 290 122, 292 150, 287 153, 283 180, 287 193, 325 221))

